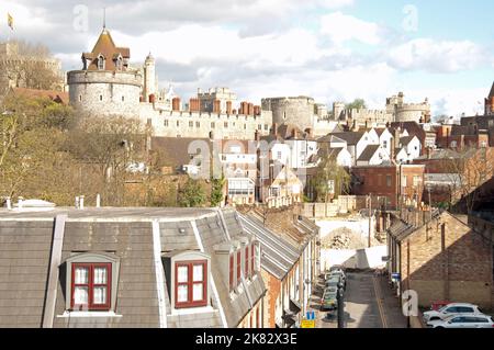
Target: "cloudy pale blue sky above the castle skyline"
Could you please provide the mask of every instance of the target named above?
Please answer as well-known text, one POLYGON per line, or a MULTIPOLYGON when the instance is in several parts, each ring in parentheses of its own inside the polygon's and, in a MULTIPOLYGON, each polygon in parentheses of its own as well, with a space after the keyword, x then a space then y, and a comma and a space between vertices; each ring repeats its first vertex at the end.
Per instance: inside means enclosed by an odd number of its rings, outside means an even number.
POLYGON ((483 113, 494 81, 494 2, 484 0, 15 0, 0 2, 0 41, 42 43, 80 69, 106 27, 139 65, 150 52, 161 88, 182 100, 228 87, 260 103, 362 98, 383 109, 403 91, 433 114, 483 113))

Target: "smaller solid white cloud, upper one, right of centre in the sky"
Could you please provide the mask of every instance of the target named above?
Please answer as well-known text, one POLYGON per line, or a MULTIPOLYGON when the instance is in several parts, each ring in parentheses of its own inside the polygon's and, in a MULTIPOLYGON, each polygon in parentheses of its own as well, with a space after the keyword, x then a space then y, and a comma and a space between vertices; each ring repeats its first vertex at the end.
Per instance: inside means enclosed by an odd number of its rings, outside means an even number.
POLYGON ((382 42, 380 31, 380 26, 375 23, 341 12, 329 13, 321 19, 321 33, 336 44, 355 39, 363 44, 378 45, 382 42))

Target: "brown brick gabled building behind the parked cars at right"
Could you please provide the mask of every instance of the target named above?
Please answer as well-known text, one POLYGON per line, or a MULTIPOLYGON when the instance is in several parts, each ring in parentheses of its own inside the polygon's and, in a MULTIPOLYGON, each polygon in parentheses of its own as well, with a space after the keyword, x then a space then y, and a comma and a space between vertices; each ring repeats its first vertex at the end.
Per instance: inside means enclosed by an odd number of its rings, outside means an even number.
POLYGON ((469 227, 467 216, 436 212, 430 219, 424 212, 395 218, 388 249, 390 272, 401 274, 398 292, 416 291, 419 306, 437 301, 494 306, 492 239, 469 227))

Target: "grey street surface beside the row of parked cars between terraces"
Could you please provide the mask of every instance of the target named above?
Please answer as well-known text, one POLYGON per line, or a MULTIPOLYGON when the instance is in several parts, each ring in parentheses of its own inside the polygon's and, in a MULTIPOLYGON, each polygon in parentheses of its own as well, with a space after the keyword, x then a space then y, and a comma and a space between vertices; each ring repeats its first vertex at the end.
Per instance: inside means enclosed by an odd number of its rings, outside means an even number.
MULTIPOLYGON (((337 328, 337 313, 321 312, 324 280, 319 278, 310 306, 316 312, 316 328, 337 328)), ((384 276, 373 272, 347 273, 345 328, 407 328, 398 298, 384 276)))

